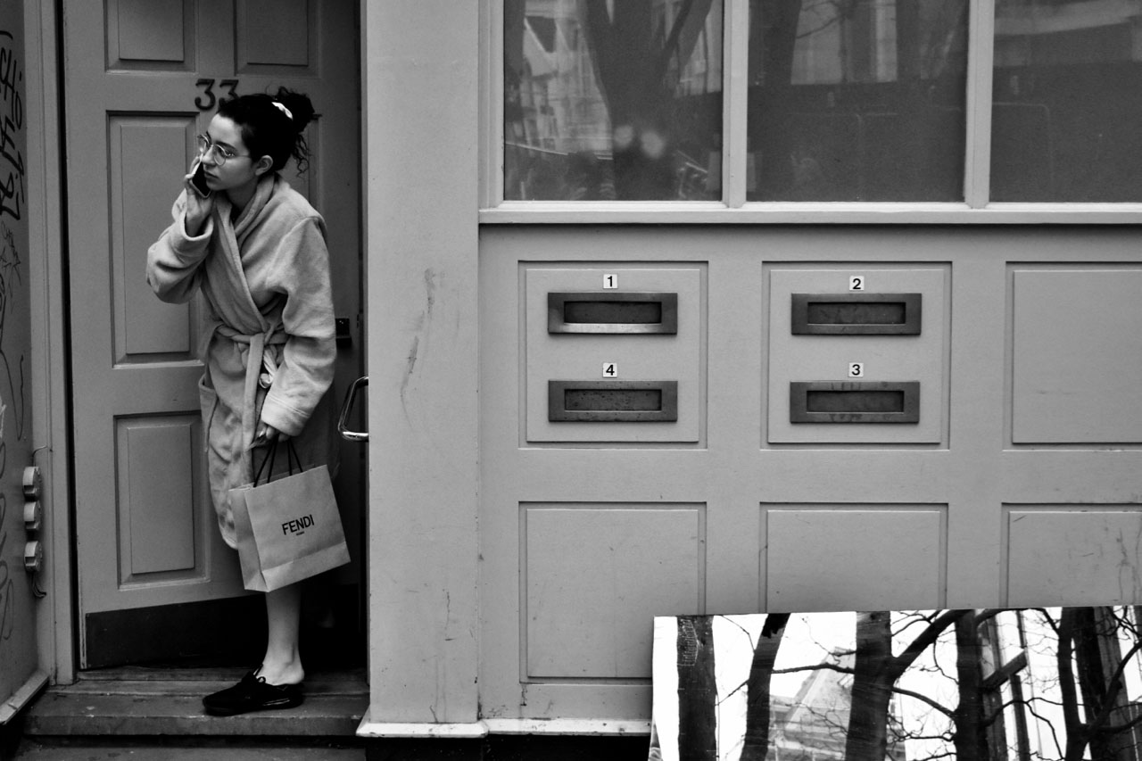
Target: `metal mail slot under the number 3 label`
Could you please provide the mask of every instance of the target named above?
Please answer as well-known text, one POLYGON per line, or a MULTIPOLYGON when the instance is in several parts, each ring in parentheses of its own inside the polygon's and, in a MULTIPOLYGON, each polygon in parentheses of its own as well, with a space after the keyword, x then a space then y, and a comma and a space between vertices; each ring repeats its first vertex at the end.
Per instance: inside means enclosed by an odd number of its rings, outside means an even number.
POLYGON ((789 384, 790 423, 919 423, 919 380, 789 384))

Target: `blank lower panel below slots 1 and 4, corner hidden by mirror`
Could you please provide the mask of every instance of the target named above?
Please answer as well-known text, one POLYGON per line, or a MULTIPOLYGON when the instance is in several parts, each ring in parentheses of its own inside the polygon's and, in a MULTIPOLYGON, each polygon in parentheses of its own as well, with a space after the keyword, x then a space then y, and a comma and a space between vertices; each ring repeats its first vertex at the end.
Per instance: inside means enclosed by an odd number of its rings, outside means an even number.
POLYGON ((525 678, 650 676, 652 620, 702 610, 699 505, 524 507, 525 678))

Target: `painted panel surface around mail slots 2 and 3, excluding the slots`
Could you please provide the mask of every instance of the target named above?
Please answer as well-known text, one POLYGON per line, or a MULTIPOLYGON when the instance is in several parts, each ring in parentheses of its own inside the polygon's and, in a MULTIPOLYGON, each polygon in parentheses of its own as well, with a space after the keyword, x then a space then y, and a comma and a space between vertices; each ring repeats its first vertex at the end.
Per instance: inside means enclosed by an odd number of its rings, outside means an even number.
POLYGON ((815 265, 772 267, 769 274, 769 435, 771 443, 940 443, 948 441, 947 373, 949 311, 947 266, 885 266, 852 263, 837 269, 815 265), (860 278, 864 294, 923 296, 918 336, 793 335, 793 294, 849 294, 860 278), (920 384, 919 423, 790 423, 791 382, 853 380, 861 363, 862 382, 920 384))

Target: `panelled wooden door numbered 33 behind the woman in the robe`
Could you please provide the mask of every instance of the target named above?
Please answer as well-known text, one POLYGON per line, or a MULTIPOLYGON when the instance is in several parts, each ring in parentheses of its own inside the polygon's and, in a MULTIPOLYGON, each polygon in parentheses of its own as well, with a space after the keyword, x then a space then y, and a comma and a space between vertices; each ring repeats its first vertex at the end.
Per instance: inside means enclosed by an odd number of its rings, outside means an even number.
MULTIPOLYGON (((194 136, 220 98, 286 86, 313 99, 309 170, 298 177, 291 163, 287 178, 325 217, 337 314, 349 338, 355 330, 356 3, 69 0, 63 10, 75 544, 90 667, 199 651, 217 639, 203 606, 218 612, 232 603, 217 601, 242 594, 201 456, 198 307, 160 303, 145 280, 147 248, 170 223, 194 136)), ((353 346, 343 349, 340 388, 361 373, 353 346)), ((343 482, 360 483, 356 459, 343 482)))

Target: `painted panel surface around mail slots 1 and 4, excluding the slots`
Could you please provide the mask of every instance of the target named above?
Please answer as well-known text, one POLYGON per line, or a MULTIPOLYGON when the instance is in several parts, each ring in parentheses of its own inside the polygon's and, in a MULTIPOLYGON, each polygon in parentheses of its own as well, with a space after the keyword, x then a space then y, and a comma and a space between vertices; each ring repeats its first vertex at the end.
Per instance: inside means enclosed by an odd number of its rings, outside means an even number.
MULTIPOLYGON (((523 270, 525 326, 521 360, 526 375, 526 442, 697 442, 701 438, 705 399, 705 298, 702 269, 641 265, 576 267, 528 265, 523 270), (602 291, 613 275, 616 294, 665 291, 678 295, 676 335, 548 334, 547 295, 602 291), (604 378, 613 362, 618 374, 604 378), (677 422, 552 423, 547 417, 548 380, 677 380, 677 422)), ((608 291, 611 293, 611 291, 608 291)))

